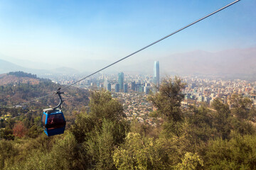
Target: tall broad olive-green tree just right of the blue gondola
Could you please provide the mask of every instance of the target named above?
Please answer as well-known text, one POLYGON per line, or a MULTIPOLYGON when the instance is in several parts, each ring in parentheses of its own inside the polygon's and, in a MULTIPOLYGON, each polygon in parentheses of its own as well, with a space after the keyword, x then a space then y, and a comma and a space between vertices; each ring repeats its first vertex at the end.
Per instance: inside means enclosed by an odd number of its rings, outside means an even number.
POLYGON ((109 92, 94 91, 89 106, 90 112, 79 113, 71 127, 82 150, 78 159, 83 169, 115 169, 112 152, 129 129, 122 105, 109 92))

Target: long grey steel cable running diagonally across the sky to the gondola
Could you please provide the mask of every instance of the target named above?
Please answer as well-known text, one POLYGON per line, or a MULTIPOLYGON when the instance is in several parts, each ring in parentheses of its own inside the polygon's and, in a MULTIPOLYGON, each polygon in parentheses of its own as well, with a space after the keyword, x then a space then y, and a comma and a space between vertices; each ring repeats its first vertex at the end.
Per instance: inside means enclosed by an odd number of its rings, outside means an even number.
MULTIPOLYGON (((101 72, 102 70, 107 69, 108 67, 111 67, 112 65, 117 64, 118 62, 121 62, 121 61, 124 60, 124 59, 127 59, 128 57, 131 57, 132 55, 135 55, 135 54, 137 54, 138 52, 141 52, 142 50, 145 50, 145 49, 148 48, 148 47, 151 47, 152 45, 154 45, 154 44, 160 42, 161 40, 164 40, 164 39, 166 39, 166 38, 169 38, 171 35, 174 35, 174 34, 180 32, 181 30, 184 30, 184 29, 186 29, 186 28, 188 28, 188 27, 194 25, 195 23, 198 23, 198 22, 202 21, 203 19, 208 18, 209 16, 212 16, 213 14, 218 13, 219 11, 222 11, 223 9, 228 8, 229 6, 232 6, 233 4, 237 3, 238 1, 240 1, 240 0, 233 1, 232 3, 230 3, 230 4, 226 5, 226 6, 223 6, 222 8, 219 8, 217 11, 214 11, 214 12, 212 12, 212 13, 209 13, 207 16, 204 16, 203 18, 200 18, 200 19, 194 21, 193 23, 190 23, 190 24, 186 25, 186 26, 184 26, 183 28, 180 28, 180 29, 174 31, 173 33, 171 33, 171 34, 169 34, 169 35, 166 35, 166 36, 164 36, 163 38, 161 38, 161 39, 159 39, 159 40, 156 40, 156 41, 154 41, 154 42, 151 42, 151 44, 146 45, 145 47, 142 47, 141 49, 139 49, 139 50, 137 50, 137 51, 135 51, 135 52, 132 52, 132 54, 127 55, 126 57, 123 57, 122 59, 117 60, 116 62, 113 62, 112 64, 109 64, 109 65, 107 65, 106 67, 103 67, 102 69, 97 70, 96 72, 93 72, 92 74, 88 75, 87 77, 84 77, 84 78, 82 78, 82 79, 79 79, 78 81, 75 81, 73 84, 70 84, 70 85, 68 85, 68 86, 65 86, 62 90, 67 89, 68 87, 73 86, 74 84, 77 84, 78 82, 80 82, 80 81, 82 81, 82 80, 84 80, 84 79, 87 79, 88 77, 91 77, 92 75, 97 74, 98 72, 101 72)), ((55 94, 55 92, 53 92, 53 94, 55 94)), ((50 96, 50 95, 53 95, 53 94, 48 94, 48 95, 46 95, 46 96, 50 96)), ((45 98, 46 96, 42 96, 42 97, 40 97, 40 98, 45 98)), ((30 103, 30 102, 32 102, 32 101, 37 101, 37 100, 40 99, 40 98, 35 98, 35 99, 31 100, 31 101, 27 101, 26 103, 30 103)), ((24 104, 24 103, 22 103, 22 104, 24 104)), ((21 104, 21 105, 22 105, 22 104, 21 104)))

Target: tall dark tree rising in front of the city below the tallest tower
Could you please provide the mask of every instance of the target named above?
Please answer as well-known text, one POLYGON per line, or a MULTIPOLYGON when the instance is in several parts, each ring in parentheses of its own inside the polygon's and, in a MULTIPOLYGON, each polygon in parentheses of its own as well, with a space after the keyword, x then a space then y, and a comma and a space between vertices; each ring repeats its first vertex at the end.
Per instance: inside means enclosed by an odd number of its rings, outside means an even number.
POLYGON ((184 85, 181 79, 177 77, 174 80, 167 77, 162 81, 159 93, 148 98, 156 108, 154 115, 158 115, 165 120, 163 133, 166 137, 179 135, 180 133, 179 130, 183 121, 181 101, 184 98, 181 90, 184 88, 184 85))

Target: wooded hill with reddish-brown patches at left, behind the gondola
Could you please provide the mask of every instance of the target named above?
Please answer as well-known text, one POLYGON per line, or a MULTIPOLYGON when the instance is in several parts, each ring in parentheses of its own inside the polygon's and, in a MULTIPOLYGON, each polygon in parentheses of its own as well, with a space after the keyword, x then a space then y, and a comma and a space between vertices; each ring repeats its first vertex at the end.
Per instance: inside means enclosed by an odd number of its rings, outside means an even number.
MULTIPOLYGON (((16 74, 0 75, 0 106, 15 106, 17 104, 31 101, 34 98, 53 93, 60 84, 55 84, 49 79, 38 79, 36 75, 24 72, 16 74)), ((70 87, 65 89, 63 98, 65 100, 65 109, 72 111, 74 108, 87 106, 89 101, 89 92, 85 89, 70 87)), ((42 98, 33 103, 27 103, 28 106, 39 108, 49 108, 58 104, 58 96, 52 95, 42 98)))

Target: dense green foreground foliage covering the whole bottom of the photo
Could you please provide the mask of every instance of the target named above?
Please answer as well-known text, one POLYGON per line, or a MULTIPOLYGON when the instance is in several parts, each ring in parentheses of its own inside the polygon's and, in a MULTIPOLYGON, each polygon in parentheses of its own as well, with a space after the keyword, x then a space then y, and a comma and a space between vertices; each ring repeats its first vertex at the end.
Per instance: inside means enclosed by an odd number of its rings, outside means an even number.
POLYGON ((92 92, 90 109, 74 111, 70 129, 53 137, 20 108, 27 115, 1 129, 0 169, 256 169, 250 100, 234 95, 232 108, 215 99, 210 108, 183 110, 182 88, 180 79, 166 79, 149 97, 156 127, 128 122, 107 91, 92 92))

